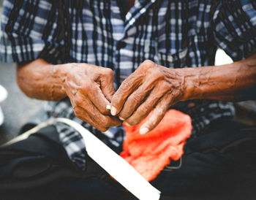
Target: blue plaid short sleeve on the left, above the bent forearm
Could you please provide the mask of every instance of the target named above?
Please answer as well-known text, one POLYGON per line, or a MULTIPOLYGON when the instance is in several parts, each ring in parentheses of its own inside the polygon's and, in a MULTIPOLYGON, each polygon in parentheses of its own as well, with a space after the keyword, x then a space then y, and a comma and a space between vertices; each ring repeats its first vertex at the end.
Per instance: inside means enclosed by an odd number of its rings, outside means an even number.
POLYGON ((58 60, 61 40, 50 0, 4 0, 1 15, 0 61, 24 63, 58 60))

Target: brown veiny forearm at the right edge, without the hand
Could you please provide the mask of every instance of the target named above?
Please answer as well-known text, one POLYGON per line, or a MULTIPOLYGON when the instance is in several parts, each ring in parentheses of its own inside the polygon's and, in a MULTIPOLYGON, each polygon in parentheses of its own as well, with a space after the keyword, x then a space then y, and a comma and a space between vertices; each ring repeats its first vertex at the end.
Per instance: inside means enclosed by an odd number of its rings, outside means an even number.
POLYGON ((184 99, 256 99, 256 54, 233 64, 181 69, 184 99))

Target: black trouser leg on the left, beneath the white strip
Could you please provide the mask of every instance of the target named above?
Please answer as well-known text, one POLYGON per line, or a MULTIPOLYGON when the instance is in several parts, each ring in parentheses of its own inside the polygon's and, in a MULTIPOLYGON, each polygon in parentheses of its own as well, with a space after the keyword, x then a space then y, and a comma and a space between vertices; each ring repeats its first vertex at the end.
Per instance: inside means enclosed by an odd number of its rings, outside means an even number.
POLYGON ((0 199, 132 199, 86 155, 86 172, 73 164, 53 126, 0 148, 0 199), (13 193, 15 191, 15 193, 13 193))

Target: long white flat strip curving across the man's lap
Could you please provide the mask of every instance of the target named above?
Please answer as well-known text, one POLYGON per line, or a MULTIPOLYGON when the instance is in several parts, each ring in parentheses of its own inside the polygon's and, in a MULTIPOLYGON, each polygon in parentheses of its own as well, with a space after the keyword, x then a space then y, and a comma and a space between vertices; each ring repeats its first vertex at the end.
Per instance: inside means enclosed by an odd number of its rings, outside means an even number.
POLYGON ((106 172, 108 172, 115 180, 121 183, 128 191, 141 200, 157 200, 160 199, 161 192, 154 188, 148 181, 144 179, 127 161, 121 158, 113 150, 100 141, 94 134, 91 134, 86 128, 83 128, 79 123, 67 118, 55 118, 47 123, 39 124, 30 131, 12 139, 4 145, 10 145, 20 140, 26 139, 29 135, 34 134, 41 128, 52 123, 66 123, 72 128, 75 128, 83 137, 86 144, 86 152, 88 155, 99 164, 106 172))

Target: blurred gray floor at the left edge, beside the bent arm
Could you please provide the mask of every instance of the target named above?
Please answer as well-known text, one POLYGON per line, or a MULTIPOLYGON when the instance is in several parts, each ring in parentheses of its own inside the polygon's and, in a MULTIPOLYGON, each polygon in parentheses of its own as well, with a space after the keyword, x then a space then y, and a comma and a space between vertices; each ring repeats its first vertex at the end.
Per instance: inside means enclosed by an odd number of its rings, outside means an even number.
POLYGON ((24 123, 42 118, 43 101, 29 99, 18 88, 15 80, 15 64, 0 63, 0 85, 7 89, 7 100, 1 103, 4 124, 0 126, 0 144, 12 139, 24 123))

